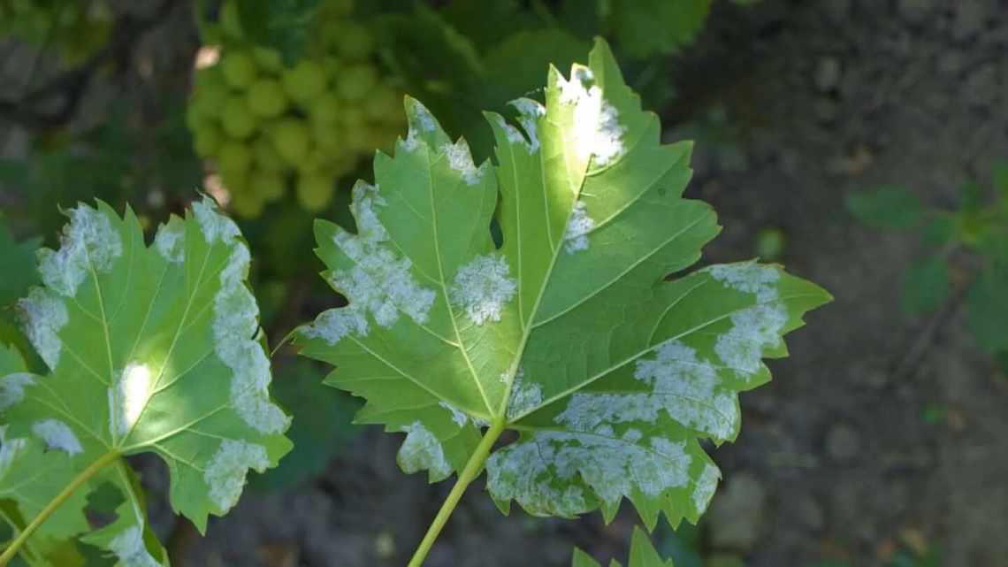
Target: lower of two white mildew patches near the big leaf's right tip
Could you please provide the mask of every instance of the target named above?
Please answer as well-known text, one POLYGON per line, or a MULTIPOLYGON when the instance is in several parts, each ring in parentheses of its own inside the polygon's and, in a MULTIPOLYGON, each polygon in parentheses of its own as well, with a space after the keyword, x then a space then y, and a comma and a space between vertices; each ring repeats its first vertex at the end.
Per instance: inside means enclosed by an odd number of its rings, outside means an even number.
POLYGON ((727 333, 718 337, 714 351, 726 366, 754 374, 761 367, 763 349, 780 345, 787 310, 780 303, 750 307, 732 314, 732 324, 727 333))

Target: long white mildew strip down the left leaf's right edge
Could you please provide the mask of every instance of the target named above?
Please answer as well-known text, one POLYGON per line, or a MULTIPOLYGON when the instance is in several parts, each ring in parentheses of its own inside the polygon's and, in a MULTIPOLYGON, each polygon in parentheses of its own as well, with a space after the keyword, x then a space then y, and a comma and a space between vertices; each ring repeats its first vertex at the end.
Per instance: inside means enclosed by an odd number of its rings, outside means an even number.
POLYGON ((259 328, 259 308, 245 286, 248 247, 237 233, 226 228, 230 219, 215 211, 211 214, 228 222, 204 219, 201 225, 216 227, 204 230, 208 242, 213 244, 220 236, 225 245, 231 246, 228 264, 220 274, 221 289, 214 296, 214 352, 232 370, 230 399, 235 412, 260 433, 280 433, 290 418, 269 400, 269 359, 262 345, 253 339, 259 328), (217 236, 212 240, 212 235, 217 236))

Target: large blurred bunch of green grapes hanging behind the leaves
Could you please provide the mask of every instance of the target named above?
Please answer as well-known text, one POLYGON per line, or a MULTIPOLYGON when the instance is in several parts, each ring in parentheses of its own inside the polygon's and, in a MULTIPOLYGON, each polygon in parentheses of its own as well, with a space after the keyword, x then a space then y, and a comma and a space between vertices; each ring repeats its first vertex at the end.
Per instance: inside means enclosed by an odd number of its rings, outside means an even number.
POLYGON ((325 208, 337 178, 402 129, 400 94, 378 71, 374 38, 352 9, 326 2, 304 55, 287 66, 246 40, 234 3, 223 5, 224 44, 216 64, 197 71, 187 122, 238 215, 258 216, 287 187, 305 209, 325 208))

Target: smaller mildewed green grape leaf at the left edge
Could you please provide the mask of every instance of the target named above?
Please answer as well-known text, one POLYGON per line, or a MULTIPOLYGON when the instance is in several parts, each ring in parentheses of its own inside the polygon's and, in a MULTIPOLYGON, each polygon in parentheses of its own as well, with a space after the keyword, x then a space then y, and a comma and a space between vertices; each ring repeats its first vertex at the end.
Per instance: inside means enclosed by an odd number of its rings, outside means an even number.
POLYGON ((69 216, 59 249, 39 252, 43 286, 18 304, 49 372, 0 379, 0 497, 28 522, 81 481, 29 539, 47 549, 89 530, 87 494, 111 482, 125 502, 85 540, 121 564, 166 563, 122 457, 159 455, 172 507, 204 531, 208 515, 238 500, 249 469, 275 466, 290 449, 257 340, 249 251, 209 199, 162 225, 150 246, 129 209, 120 218, 99 202, 69 216))

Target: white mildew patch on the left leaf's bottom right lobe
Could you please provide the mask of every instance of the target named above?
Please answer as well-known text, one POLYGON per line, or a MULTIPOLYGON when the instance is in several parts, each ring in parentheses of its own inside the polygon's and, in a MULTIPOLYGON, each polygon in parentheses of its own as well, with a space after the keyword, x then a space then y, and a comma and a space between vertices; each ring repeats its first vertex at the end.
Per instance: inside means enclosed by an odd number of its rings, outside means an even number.
POLYGON ((210 499, 220 512, 231 509, 242 495, 249 469, 263 472, 269 466, 266 448, 237 439, 225 439, 203 473, 210 499))

